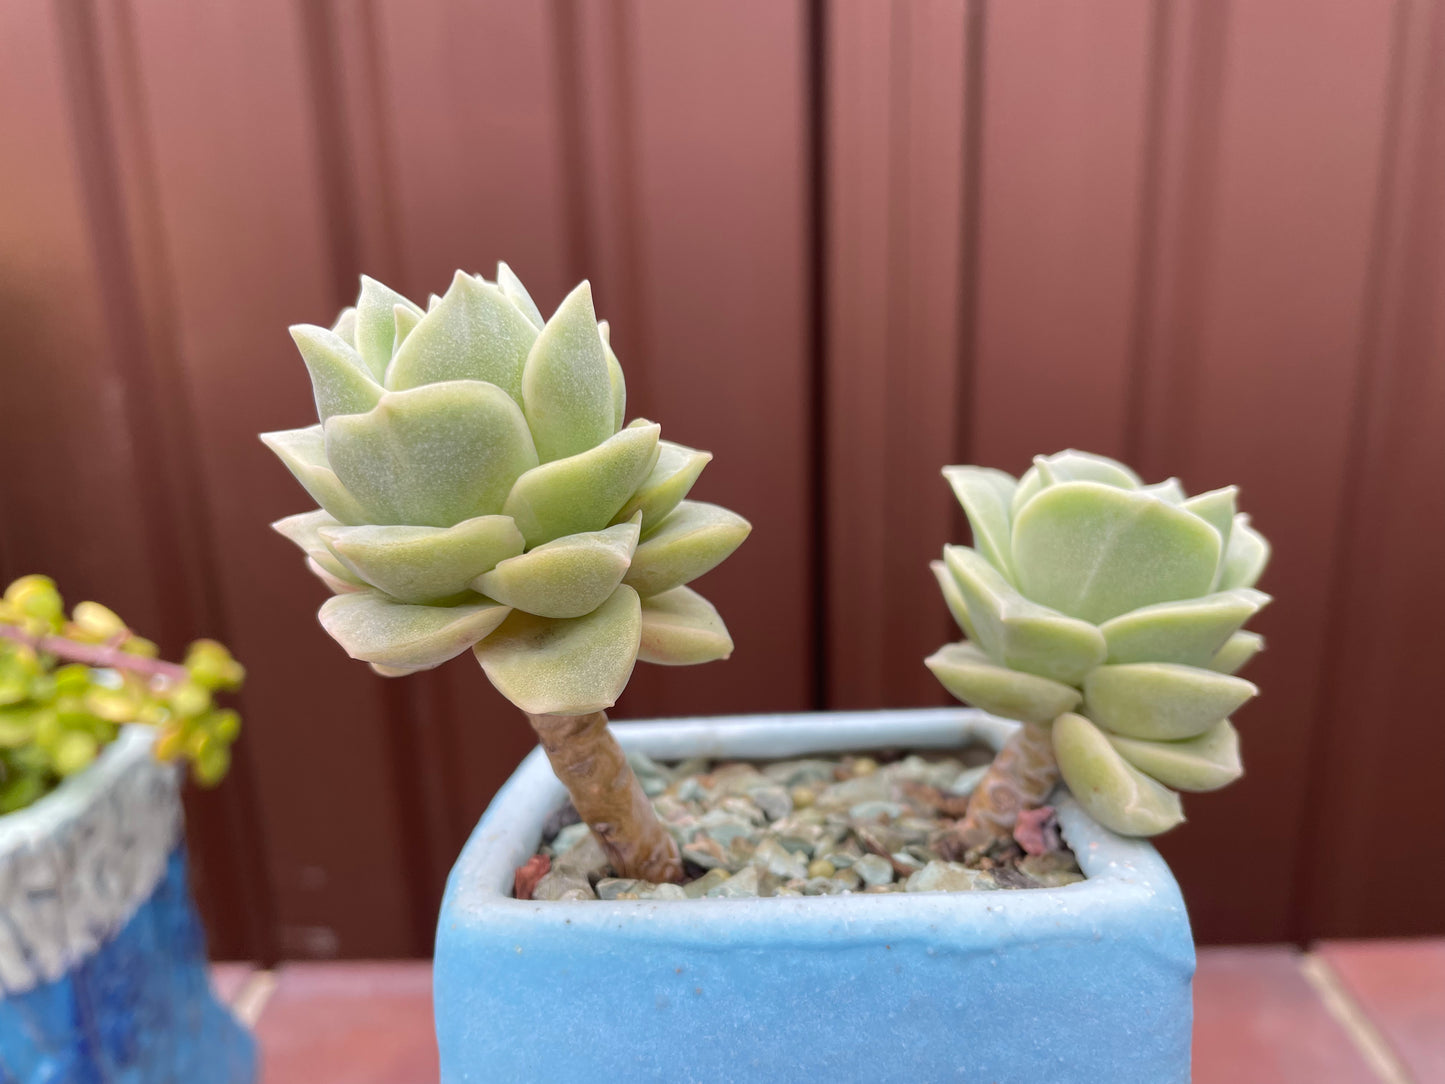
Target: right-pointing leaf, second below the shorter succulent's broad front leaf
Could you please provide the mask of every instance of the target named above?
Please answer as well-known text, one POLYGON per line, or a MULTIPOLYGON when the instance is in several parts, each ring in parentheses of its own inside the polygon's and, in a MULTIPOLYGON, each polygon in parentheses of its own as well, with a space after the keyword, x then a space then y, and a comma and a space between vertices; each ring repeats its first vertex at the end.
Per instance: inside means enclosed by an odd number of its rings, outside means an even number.
POLYGON ((1259 689, 1198 666, 1129 662, 1098 666, 1084 679, 1084 714, 1124 737, 1176 741, 1228 718, 1259 689))

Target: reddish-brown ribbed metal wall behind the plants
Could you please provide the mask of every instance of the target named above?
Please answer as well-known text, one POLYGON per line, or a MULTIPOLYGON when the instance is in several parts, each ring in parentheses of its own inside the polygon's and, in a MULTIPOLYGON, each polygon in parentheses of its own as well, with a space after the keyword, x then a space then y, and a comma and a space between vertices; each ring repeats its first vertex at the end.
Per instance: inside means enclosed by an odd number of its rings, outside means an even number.
POLYGON ((405 955, 530 744, 315 624, 256 441, 367 270, 582 276, 756 525, 730 663, 618 715, 944 702, 944 463, 1227 483, 1276 546, 1205 941, 1445 931, 1445 3, 0 4, 0 575, 251 671, 191 805, 221 955, 405 955))

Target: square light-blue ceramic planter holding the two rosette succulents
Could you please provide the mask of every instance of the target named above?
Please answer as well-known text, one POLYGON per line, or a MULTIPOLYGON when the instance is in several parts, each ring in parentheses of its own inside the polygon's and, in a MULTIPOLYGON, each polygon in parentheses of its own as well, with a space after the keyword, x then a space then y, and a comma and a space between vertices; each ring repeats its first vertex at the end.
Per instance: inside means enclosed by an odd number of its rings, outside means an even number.
MULTIPOLYGON (((616 726, 659 760, 996 749, 968 708, 616 726)), ((442 1084, 1183 1084, 1194 942, 1147 843, 1064 799, 1062 889, 532 902, 516 866, 566 793, 533 750, 452 869, 436 931, 442 1084)))

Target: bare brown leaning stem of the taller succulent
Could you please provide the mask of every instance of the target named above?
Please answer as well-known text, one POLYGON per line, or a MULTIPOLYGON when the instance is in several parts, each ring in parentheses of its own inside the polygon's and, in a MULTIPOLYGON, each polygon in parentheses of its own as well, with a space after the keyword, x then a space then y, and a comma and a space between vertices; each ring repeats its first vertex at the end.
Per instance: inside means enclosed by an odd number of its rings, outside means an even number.
POLYGON ((617 876, 655 885, 682 880, 678 844, 642 792, 627 754, 607 728, 607 715, 601 711, 590 715, 529 713, 527 720, 617 876))

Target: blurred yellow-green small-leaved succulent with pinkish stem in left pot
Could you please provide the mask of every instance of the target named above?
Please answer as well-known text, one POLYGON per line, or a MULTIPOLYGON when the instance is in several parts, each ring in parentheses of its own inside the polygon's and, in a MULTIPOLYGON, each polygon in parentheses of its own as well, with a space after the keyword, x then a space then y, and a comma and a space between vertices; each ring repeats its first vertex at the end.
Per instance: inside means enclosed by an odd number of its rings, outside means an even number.
POLYGON ((0 814, 29 805, 75 775, 127 723, 153 726, 156 756, 189 760, 211 786, 231 763, 241 720, 217 705, 246 671, 215 640, 197 640, 184 663, 156 658, 100 603, 65 616, 55 582, 25 575, 0 597, 0 814))

